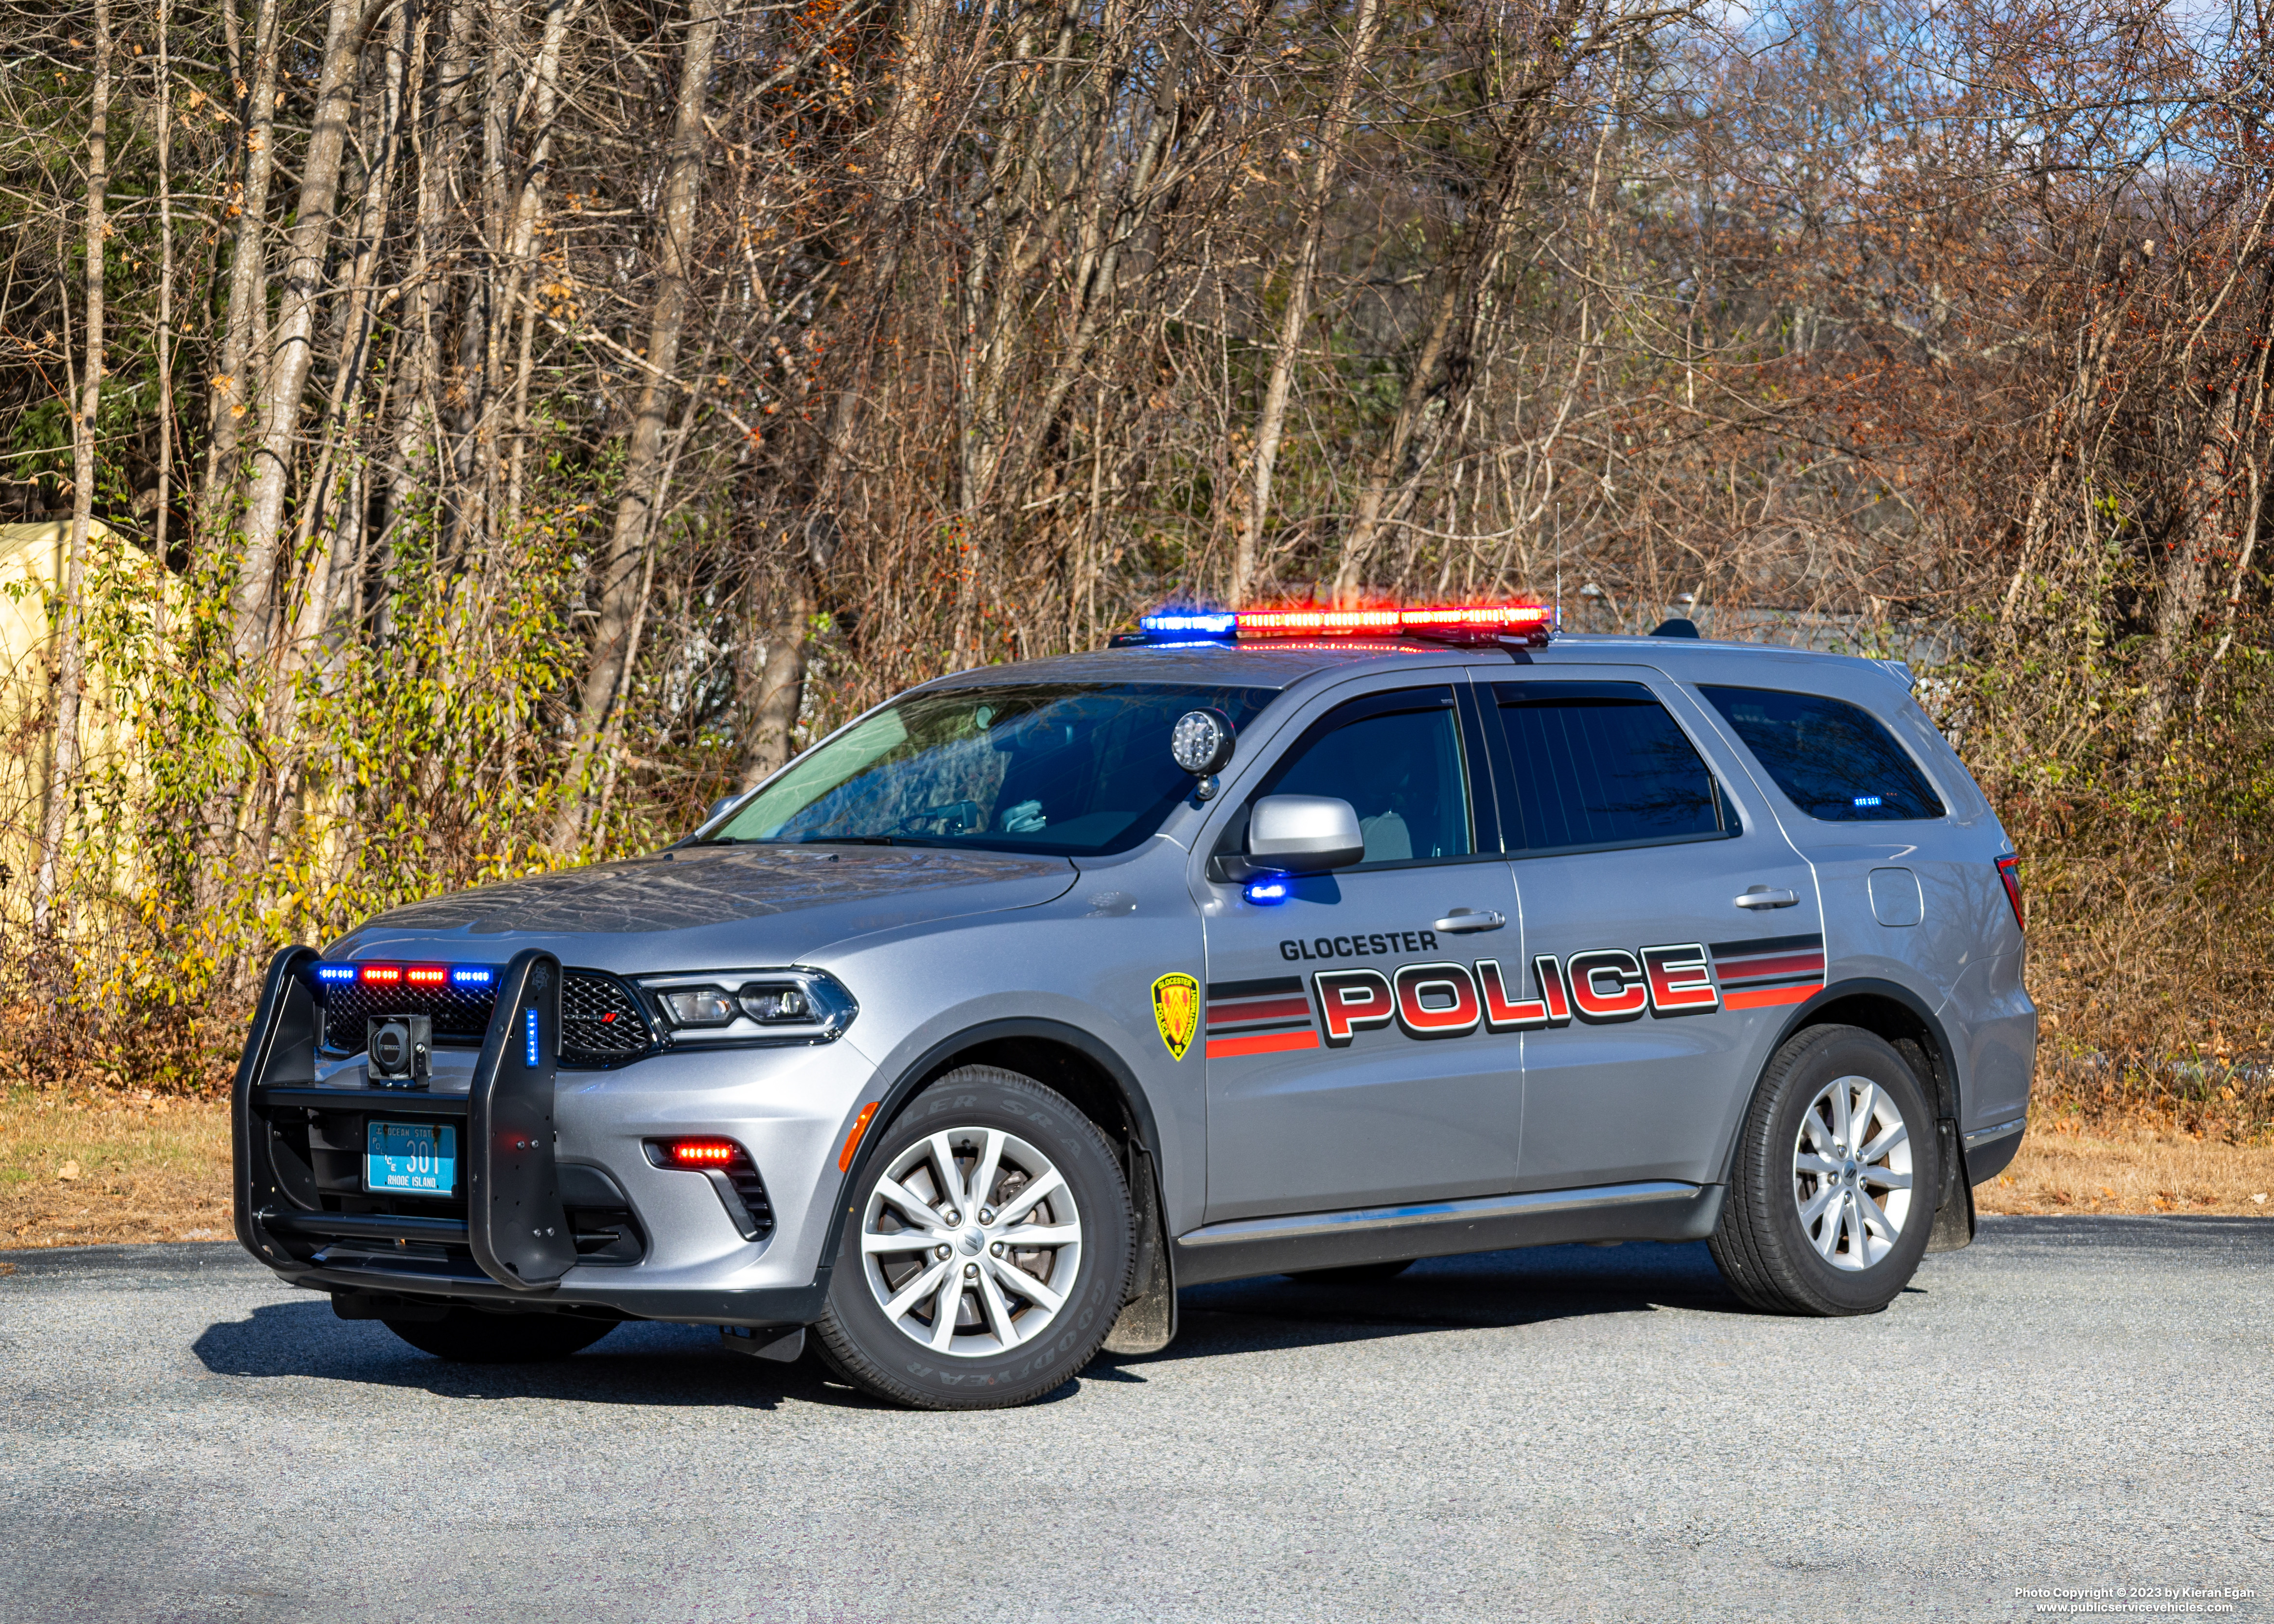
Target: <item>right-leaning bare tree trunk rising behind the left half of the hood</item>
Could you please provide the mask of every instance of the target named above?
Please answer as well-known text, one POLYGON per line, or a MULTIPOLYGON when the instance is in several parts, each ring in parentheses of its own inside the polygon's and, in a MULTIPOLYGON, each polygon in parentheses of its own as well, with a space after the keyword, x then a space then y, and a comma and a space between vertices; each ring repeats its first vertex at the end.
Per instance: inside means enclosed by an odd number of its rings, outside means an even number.
POLYGON ((623 494, 600 566, 600 623, 578 705, 578 739, 562 778, 566 796, 553 826, 553 848, 568 851, 584 826, 584 776, 594 744, 623 687, 632 621, 639 614, 641 555, 650 546, 655 475, 662 464, 664 428, 675 396, 673 368, 687 330, 687 282, 694 268, 696 207, 703 200, 703 105, 709 98, 712 57, 719 45, 723 0, 694 0, 687 52, 680 61, 680 98, 671 123, 671 171, 664 182, 662 232, 657 234, 655 312, 648 325, 648 373, 632 412, 632 437, 623 457, 623 494))

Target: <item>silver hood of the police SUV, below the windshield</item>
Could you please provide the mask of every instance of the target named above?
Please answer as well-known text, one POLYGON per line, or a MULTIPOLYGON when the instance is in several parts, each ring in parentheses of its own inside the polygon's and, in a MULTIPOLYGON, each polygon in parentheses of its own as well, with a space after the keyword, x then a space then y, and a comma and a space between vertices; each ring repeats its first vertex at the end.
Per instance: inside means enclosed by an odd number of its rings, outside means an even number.
POLYGON ((366 919, 325 958, 566 964, 653 973, 810 962, 875 930, 1037 908, 1073 887, 1064 857, 921 846, 682 846, 434 896, 366 919))

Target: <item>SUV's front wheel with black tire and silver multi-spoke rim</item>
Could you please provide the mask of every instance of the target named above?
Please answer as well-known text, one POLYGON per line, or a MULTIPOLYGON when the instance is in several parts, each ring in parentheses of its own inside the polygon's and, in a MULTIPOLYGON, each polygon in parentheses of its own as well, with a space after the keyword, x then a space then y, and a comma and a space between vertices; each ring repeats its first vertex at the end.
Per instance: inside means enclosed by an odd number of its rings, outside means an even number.
POLYGON ((1112 1144, 994 1067, 916 1094, 869 1149, 814 1324, 844 1381, 923 1410, 1067 1385, 1128 1299, 1135 1219, 1112 1144))

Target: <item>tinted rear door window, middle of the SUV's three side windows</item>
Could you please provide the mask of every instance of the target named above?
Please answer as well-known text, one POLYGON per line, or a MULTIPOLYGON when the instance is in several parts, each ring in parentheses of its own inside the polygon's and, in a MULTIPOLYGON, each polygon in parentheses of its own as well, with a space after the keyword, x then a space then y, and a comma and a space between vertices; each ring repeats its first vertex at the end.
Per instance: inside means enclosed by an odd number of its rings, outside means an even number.
POLYGON ((1499 682, 1521 851, 1735 835, 1719 785, 1640 682, 1499 682))

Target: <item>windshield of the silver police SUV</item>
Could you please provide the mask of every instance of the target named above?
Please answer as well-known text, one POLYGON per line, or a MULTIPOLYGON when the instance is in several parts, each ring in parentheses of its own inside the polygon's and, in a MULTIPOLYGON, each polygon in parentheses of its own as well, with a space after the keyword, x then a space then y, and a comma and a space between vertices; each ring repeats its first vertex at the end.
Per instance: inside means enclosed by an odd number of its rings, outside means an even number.
POLYGON ((803 755, 712 842, 982 846, 1101 857, 1146 839, 1192 773, 1187 710, 1246 721, 1267 687, 1023 682, 910 694, 803 755))

